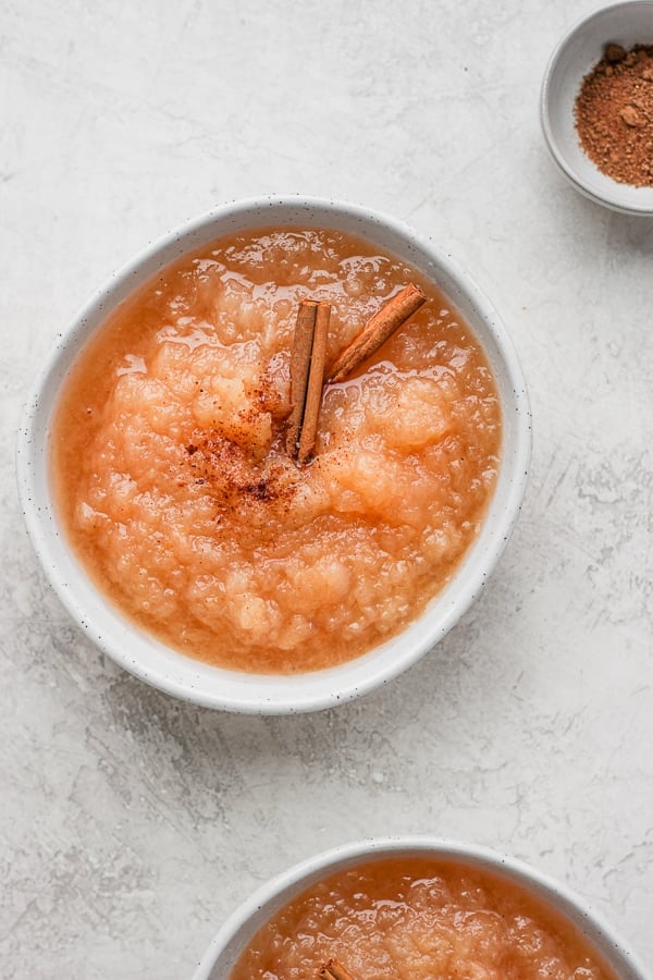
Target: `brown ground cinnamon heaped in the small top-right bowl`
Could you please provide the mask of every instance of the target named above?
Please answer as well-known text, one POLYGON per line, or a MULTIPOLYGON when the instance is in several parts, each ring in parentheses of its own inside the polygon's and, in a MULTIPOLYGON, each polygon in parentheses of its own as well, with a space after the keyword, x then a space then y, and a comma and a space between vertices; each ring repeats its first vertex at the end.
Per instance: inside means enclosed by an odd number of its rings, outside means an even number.
POLYGON ((599 170, 653 187, 653 45, 607 45, 575 107, 580 145, 599 170))

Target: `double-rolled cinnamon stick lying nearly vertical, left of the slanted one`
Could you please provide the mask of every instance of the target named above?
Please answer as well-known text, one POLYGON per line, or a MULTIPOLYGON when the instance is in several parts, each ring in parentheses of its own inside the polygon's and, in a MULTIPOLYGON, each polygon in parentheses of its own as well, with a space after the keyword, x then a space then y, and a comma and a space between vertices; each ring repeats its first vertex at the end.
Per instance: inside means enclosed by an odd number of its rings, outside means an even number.
POLYGON ((331 306, 304 299, 299 304, 291 355, 291 417, 286 450, 299 463, 311 456, 322 404, 326 333, 331 306))

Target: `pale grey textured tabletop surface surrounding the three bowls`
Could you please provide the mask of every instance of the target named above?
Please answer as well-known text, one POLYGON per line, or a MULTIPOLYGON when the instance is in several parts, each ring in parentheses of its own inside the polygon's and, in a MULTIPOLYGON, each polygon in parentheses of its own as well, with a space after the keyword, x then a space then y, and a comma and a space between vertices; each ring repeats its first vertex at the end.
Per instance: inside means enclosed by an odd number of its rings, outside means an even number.
POLYGON ((505 849, 653 967, 653 222, 563 183, 538 96, 584 0, 3 0, 4 978, 180 980, 256 885, 367 834, 505 849), (534 411, 523 513, 481 599, 386 689, 211 713, 91 648, 14 489, 35 370, 147 242, 230 198, 335 196, 466 265, 534 411))

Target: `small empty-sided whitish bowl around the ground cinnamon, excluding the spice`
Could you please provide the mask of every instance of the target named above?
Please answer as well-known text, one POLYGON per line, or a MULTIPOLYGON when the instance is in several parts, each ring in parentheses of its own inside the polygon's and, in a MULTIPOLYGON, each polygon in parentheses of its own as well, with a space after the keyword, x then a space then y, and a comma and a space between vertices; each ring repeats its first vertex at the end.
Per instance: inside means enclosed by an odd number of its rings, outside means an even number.
POLYGON ((583 77, 614 41, 653 45, 653 0, 630 0, 584 17, 553 52, 542 84, 540 111, 553 159, 571 184, 596 204, 625 215, 653 216, 653 187, 620 184, 601 173, 580 148, 574 106, 583 77))

